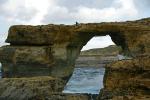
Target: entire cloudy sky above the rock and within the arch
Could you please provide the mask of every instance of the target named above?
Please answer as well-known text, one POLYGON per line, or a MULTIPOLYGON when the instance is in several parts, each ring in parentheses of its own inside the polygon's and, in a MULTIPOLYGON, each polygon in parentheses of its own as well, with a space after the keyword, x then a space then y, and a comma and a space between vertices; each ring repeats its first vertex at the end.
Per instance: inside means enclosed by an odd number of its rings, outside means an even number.
MULTIPOLYGON (((0 0, 0 45, 12 25, 99 23, 149 16, 150 0, 0 0)), ((89 44, 85 49, 113 43, 106 36, 93 38, 89 44)))

